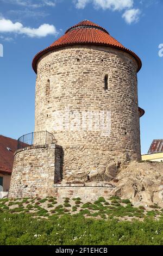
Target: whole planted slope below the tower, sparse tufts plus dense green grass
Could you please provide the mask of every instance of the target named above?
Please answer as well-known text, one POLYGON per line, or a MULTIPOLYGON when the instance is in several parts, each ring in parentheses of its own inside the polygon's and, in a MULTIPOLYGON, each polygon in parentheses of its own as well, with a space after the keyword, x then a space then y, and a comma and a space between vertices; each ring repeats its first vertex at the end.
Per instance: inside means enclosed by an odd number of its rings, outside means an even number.
POLYGON ((162 224, 158 205, 134 207, 117 196, 0 199, 0 245, 162 245, 162 224))

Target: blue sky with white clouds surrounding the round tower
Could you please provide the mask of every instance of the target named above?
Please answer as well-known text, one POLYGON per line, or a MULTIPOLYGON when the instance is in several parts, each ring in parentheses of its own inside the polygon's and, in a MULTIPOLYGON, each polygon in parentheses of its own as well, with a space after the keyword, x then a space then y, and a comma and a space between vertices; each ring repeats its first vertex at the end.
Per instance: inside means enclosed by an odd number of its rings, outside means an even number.
POLYGON ((17 139, 34 131, 32 59, 68 27, 87 19, 142 59, 139 106, 146 114, 140 121, 141 148, 147 153, 153 139, 163 139, 162 13, 162 0, 0 0, 0 133, 17 139))

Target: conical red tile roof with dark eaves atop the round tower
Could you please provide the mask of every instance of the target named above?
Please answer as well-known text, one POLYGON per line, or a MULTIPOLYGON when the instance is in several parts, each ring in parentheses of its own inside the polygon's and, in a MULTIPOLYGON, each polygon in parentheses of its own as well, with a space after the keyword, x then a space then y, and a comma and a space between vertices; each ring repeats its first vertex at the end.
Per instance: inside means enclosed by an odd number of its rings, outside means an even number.
POLYGON ((32 63, 34 71, 37 72, 37 61, 41 56, 43 56, 43 54, 52 51, 55 48, 70 45, 102 45, 117 48, 129 53, 136 59, 138 64, 137 72, 141 69, 141 60, 134 52, 124 47, 116 39, 112 38, 106 29, 91 21, 84 20, 79 22, 77 25, 68 28, 65 34, 61 36, 61 38, 59 38, 57 41, 54 41, 53 44, 51 44, 49 47, 36 54, 32 63))

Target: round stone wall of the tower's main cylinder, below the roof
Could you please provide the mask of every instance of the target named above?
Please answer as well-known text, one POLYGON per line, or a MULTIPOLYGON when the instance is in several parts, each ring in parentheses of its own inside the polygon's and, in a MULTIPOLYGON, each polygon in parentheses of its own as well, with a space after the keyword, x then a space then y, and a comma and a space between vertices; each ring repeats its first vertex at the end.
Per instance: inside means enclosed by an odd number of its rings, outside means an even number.
POLYGON ((40 58, 35 131, 52 132, 62 146, 64 179, 81 174, 83 182, 112 161, 140 160, 136 70, 133 57, 110 47, 64 47, 40 58))

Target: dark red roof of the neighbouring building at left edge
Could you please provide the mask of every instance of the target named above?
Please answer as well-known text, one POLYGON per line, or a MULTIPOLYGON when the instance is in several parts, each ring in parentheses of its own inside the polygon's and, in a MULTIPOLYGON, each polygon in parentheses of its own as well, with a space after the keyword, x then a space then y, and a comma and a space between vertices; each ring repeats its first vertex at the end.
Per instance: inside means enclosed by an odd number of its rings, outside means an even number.
POLYGON ((16 139, 0 135, 0 173, 11 174, 16 150, 16 139))

